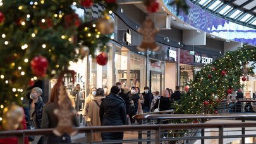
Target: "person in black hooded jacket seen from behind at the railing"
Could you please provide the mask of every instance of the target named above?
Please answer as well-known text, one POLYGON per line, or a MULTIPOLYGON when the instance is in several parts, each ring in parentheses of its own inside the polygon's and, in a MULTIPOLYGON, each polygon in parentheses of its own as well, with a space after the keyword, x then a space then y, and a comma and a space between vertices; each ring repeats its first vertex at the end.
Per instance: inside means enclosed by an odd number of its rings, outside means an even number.
MULTIPOLYGON (((111 87, 109 96, 102 100, 100 106, 100 119, 102 126, 125 125, 125 101, 118 96, 118 86, 111 87)), ((102 140, 123 140, 123 132, 101 133, 102 140)))

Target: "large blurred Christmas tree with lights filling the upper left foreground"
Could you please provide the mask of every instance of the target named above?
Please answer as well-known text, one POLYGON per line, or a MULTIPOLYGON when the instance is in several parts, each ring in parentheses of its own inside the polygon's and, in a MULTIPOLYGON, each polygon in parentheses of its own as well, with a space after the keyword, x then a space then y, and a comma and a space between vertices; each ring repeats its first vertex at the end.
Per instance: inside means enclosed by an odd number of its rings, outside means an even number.
MULTIPOLYGON (((143 3, 149 12, 159 9, 156 0, 143 3)), ((102 52, 97 63, 107 63, 108 35, 114 31, 110 15, 117 7, 116 0, 0 0, 0 130, 13 130, 1 124, 36 80, 70 72, 70 62, 95 58, 96 50, 102 52), (104 8, 99 19, 75 13, 93 4, 104 8)))

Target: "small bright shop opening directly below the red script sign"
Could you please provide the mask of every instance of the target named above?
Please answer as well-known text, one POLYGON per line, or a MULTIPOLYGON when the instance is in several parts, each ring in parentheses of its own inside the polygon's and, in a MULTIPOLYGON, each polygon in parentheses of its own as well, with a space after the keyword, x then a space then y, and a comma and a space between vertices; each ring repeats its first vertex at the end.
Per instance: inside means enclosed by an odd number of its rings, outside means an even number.
POLYGON ((162 90, 161 78, 162 78, 161 72, 155 72, 150 70, 149 87, 151 88, 151 92, 159 91, 161 93, 161 90, 162 90))

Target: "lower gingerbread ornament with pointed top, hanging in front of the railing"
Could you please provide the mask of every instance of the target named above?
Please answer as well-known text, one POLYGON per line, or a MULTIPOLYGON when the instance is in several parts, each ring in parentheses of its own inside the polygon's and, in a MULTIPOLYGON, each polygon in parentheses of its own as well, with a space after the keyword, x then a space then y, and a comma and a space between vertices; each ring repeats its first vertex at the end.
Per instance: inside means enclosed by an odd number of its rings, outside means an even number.
POLYGON ((53 133, 57 136, 61 136, 64 133, 76 135, 78 131, 73 127, 73 119, 76 111, 71 110, 71 103, 63 84, 60 86, 58 104, 59 109, 54 109, 54 114, 58 117, 59 121, 53 133))

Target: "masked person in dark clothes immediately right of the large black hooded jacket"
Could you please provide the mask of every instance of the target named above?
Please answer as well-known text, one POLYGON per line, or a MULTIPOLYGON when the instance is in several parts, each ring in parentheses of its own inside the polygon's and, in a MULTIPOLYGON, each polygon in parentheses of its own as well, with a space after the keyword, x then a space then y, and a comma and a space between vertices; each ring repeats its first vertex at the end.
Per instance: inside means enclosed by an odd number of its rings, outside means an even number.
POLYGON ((135 119, 132 117, 137 113, 142 113, 142 105, 140 104, 140 96, 135 91, 135 87, 131 87, 131 91, 128 94, 130 100, 129 116, 131 123, 135 123, 135 119))

